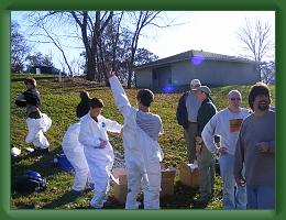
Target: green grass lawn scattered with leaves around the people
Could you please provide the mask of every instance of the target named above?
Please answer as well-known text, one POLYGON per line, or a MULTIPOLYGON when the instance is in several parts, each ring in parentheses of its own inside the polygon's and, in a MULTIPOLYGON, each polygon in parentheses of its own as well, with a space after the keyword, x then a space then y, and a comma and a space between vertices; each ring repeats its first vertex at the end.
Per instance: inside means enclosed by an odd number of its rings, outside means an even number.
MULTIPOLYGON (((14 76, 13 76, 14 77, 14 76)), ((32 193, 30 195, 20 195, 14 191, 11 193, 11 208, 12 209, 75 209, 88 208, 89 201, 92 197, 91 191, 87 191, 85 196, 75 198, 68 194, 73 184, 73 176, 59 170, 53 166, 53 157, 56 153, 62 151, 61 142, 65 129, 77 121, 76 106, 79 102, 79 91, 87 90, 91 97, 99 97, 105 101, 102 114, 106 118, 117 120, 122 123, 123 118, 118 111, 116 103, 111 96, 110 88, 96 87, 95 85, 80 86, 76 84, 70 86, 65 79, 65 82, 59 84, 55 79, 41 79, 37 81, 37 88, 42 97, 41 110, 47 113, 53 124, 46 138, 51 144, 51 154, 43 156, 33 156, 24 152, 24 147, 32 146, 24 143, 26 134, 25 125, 25 109, 18 108, 14 100, 18 94, 25 90, 22 81, 11 82, 11 143, 22 150, 22 160, 11 164, 12 184, 13 179, 23 175, 24 170, 33 169, 41 173, 47 179, 47 189, 42 193, 32 193)), ((239 89, 242 92, 243 106, 248 107, 248 95, 250 86, 226 86, 212 89, 212 98, 218 108, 221 110, 227 107, 227 94, 231 89, 239 89)), ((273 101, 275 101, 275 87, 271 86, 273 94, 273 101)), ((136 89, 128 89, 127 94, 131 103, 135 105, 136 89)), ((177 166, 183 162, 187 162, 185 140, 183 136, 183 129, 176 121, 176 107, 180 94, 155 94, 155 102, 151 111, 161 116, 164 124, 165 133, 160 136, 160 144, 164 151, 164 162, 167 165, 177 166)), ((120 152, 123 152, 122 140, 112 135, 112 145, 120 152)), ((216 198, 209 204, 207 209, 221 209, 221 202, 218 200, 221 193, 221 178, 216 179, 216 198)), ((193 197, 197 196, 197 191, 182 185, 178 182, 178 176, 175 178, 175 194, 174 196, 164 197, 161 199, 163 209, 188 209, 193 197)), ((110 208, 121 209, 123 205, 118 204, 113 198, 113 189, 111 187, 109 199, 112 201, 110 208)), ((140 197, 142 200, 142 196, 140 197)))

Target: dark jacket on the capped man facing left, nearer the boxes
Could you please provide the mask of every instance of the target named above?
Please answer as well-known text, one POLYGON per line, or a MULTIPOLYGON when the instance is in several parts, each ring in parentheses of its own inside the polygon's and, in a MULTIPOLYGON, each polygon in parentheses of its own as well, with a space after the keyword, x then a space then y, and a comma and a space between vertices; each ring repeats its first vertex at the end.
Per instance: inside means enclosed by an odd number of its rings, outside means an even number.
POLYGON ((217 113, 217 108, 211 101, 211 98, 206 98, 199 108, 198 111, 198 135, 201 135, 201 132, 205 125, 209 122, 209 120, 217 113))

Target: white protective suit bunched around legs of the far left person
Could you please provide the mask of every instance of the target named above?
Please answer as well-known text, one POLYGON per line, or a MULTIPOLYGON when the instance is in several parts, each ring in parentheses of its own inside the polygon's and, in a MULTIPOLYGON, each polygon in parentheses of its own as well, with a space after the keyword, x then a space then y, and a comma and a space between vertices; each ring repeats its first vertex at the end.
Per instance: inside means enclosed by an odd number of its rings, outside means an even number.
POLYGON ((51 125, 52 119, 45 113, 41 113, 41 119, 26 119, 28 135, 25 138, 26 143, 33 143, 35 148, 47 148, 50 143, 44 135, 51 125))

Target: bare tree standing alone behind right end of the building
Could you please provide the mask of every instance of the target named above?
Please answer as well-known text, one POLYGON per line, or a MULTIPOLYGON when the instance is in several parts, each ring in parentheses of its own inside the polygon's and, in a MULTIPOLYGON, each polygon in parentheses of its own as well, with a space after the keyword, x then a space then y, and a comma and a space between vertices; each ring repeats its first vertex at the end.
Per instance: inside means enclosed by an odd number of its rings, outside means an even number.
POLYGON ((239 30, 238 38, 242 42, 243 51, 250 53, 250 57, 258 63, 257 68, 261 73, 261 62, 270 56, 275 47, 271 23, 258 20, 253 23, 245 19, 245 25, 239 30))

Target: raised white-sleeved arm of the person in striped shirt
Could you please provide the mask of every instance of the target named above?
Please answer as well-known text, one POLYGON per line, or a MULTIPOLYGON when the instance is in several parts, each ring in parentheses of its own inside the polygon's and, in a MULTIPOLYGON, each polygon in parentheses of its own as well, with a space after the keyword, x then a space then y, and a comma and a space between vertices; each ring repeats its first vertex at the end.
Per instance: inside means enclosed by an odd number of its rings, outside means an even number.
POLYGON ((119 110, 121 111, 124 118, 129 117, 132 107, 129 102, 128 96, 123 87, 121 86, 118 77, 112 70, 109 73, 109 82, 119 110))

